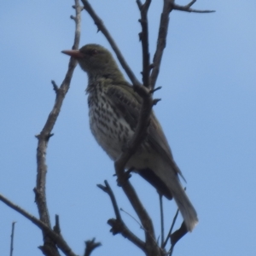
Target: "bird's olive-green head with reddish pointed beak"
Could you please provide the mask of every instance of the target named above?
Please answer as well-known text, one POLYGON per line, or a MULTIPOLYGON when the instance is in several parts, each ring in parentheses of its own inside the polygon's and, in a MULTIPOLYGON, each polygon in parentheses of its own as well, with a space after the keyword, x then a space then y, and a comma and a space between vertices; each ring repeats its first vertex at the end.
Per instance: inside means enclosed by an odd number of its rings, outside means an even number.
POLYGON ((99 44, 86 44, 79 50, 62 50, 79 61, 80 67, 88 74, 89 79, 108 78, 124 80, 113 56, 99 44))

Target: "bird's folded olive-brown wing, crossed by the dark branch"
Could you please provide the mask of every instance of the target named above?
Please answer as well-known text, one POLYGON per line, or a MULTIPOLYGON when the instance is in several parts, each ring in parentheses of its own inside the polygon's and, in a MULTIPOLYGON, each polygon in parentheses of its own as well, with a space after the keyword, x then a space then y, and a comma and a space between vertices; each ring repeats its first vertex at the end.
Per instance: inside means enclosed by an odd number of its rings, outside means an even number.
MULTIPOLYGON (((119 109, 125 121, 131 126, 131 129, 135 131, 143 102, 142 98, 138 96, 131 85, 128 84, 109 84, 107 95, 111 97, 113 107, 119 109)), ((170 166, 172 166, 172 170, 183 177, 182 172, 173 160, 171 148, 167 143, 166 136, 162 131, 158 120, 154 116, 153 111, 148 127, 147 140, 151 147, 154 148, 154 150, 158 152, 170 166)))

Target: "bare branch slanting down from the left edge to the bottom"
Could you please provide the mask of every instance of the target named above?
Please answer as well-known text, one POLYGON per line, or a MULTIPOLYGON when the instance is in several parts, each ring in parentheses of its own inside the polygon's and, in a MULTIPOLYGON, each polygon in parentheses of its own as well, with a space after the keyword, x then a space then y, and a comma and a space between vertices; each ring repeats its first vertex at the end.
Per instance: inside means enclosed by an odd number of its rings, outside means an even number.
POLYGON ((16 212, 19 212, 22 216, 29 219, 33 224, 38 226, 38 228, 44 231, 46 236, 49 236, 52 241, 54 241, 57 246, 61 249, 61 251, 68 256, 77 256, 73 253, 72 249, 68 247, 67 242, 59 236, 55 231, 51 230, 47 224, 44 224, 43 221, 39 220, 38 218, 32 216, 32 214, 26 212, 21 207, 15 205, 12 201, 9 201, 6 197, 0 194, 0 201, 3 201, 7 206, 14 209, 16 212))

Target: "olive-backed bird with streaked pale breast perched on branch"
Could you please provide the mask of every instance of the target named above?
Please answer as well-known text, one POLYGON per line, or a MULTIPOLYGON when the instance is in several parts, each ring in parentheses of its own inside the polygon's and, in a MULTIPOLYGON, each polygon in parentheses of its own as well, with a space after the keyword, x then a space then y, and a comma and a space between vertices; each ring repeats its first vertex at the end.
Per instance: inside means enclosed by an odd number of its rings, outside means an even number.
MULTIPOLYGON (((79 62, 87 73, 90 131, 112 160, 117 160, 133 136, 143 99, 119 70, 110 51, 99 44, 86 44, 79 50, 63 50, 79 62)), ((147 136, 125 169, 132 169, 157 189, 160 195, 177 203, 188 231, 198 223, 197 213, 186 195, 171 148, 156 118, 150 114, 147 136)))

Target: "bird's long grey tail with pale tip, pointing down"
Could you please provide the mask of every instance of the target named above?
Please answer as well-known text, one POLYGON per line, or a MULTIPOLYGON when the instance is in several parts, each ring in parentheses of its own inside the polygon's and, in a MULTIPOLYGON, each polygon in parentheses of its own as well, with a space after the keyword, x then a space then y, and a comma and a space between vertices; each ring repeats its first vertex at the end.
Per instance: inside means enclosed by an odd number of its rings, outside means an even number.
POLYGON ((186 195, 181 183, 177 179, 172 179, 172 184, 168 186, 172 191, 172 196, 177 203, 177 207, 181 212, 187 230, 191 232, 195 225, 198 223, 197 213, 192 203, 189 201, 188 195, 186 195))

